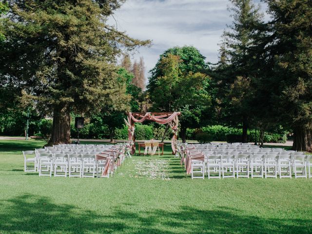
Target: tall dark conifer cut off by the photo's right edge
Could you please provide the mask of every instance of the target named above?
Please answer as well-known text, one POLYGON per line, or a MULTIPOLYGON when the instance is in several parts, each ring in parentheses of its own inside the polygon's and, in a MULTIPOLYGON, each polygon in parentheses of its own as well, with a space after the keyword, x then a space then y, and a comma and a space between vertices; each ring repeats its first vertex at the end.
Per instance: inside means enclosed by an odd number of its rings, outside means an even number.
POLYGON ((266 0, 266 88, 284 126, 293 131, 293 149, 312 150, 312 1, 266 0))

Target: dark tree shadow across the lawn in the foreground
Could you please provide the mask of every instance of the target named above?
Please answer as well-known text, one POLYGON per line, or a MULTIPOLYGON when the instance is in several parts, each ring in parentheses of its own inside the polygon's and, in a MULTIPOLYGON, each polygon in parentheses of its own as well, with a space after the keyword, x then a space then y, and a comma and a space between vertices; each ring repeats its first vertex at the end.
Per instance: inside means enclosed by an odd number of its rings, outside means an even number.
POLYGON ((140 210, 138 204, 120 203, 101 209, 101 213, 78 206, 54 204, 49 198, 22 195, 1 200, 0 233, 298 233, 312 232, 311 217, 278 219, 246 215, 228 207, 205 210, 177 206, 140 210))

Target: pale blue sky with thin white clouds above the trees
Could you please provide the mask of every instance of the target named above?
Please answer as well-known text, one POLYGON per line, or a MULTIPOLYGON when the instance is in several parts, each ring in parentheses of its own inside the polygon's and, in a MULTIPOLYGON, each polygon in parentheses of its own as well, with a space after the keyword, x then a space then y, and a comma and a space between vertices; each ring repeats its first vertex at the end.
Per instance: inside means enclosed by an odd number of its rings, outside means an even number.
POLYGON ((109 24, 135 39, 152 40, 151 47, 141 47, 132 56, 144 58, 148 77, 159 55, 174 46, 195 46, 206 62, 217 62, 220 36, 232 22, 229 4, 229 0, 127 0, 109 24))

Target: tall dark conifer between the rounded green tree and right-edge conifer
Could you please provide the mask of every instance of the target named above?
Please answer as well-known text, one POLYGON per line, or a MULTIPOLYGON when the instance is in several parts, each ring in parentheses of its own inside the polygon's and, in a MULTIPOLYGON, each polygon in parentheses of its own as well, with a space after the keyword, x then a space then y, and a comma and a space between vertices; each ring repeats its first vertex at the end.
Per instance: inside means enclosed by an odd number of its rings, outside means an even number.
POLYGON ((223 34, 220 61, 215 71, 221 119, 230 125, 242 123, 242 142, 247 142, 254 99, 253 81, 258 77, 254 46, 262 15, 251 0, 231 0, 233 23, 223 34))

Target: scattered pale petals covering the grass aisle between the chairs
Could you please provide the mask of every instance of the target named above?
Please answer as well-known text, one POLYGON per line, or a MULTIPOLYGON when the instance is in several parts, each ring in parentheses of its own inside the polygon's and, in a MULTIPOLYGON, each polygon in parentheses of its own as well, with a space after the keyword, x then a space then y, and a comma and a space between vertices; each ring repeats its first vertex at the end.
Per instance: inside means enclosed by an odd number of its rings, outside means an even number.
POLYGON ((134 160, 133 163, 135 164, 135 176, 130 175, 130 177, 170 180, 168 177, 168 160, 134 160))

